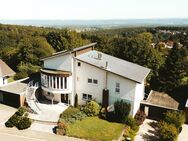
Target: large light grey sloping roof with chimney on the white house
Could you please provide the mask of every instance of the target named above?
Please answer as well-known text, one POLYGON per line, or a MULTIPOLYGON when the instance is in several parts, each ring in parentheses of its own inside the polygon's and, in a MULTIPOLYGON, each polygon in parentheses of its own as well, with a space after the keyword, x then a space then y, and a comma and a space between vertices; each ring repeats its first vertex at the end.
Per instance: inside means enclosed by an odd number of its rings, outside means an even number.
POLYGON ((150 72, 150 69, 146 67, 95 50, 81 54, 75 58, 138 83, 144 82, 144 79, 150 72))

